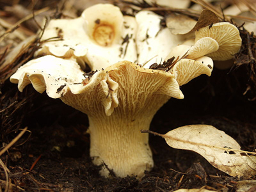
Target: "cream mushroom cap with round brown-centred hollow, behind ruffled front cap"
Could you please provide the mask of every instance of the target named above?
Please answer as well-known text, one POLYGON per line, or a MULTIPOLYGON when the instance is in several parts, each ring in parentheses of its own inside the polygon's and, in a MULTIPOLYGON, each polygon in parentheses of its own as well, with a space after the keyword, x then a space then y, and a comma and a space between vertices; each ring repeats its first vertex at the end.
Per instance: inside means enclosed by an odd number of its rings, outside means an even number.
POLYGON ((75 60, 92 70, 122 60, 137 60, 134 17, 123 16, 113 4, 95 4, 76 19, 53 19, 42 35, 42 49, 35 56, 52 54, 75 60), (47 41, 61 36, 58 41, 47 41))

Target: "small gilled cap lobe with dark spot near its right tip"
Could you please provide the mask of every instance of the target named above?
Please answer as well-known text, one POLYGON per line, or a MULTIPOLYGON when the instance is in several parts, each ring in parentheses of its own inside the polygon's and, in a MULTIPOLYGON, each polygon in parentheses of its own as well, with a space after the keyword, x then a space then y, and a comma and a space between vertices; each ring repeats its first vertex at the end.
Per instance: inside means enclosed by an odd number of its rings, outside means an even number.
POLYGON ((182 59, 172 68, 172 73, 176 76, 179 85, 188 83, 191 79, 202 74, 211 76, 213 62, 209 57, 201 57, 198 60, 182 59))

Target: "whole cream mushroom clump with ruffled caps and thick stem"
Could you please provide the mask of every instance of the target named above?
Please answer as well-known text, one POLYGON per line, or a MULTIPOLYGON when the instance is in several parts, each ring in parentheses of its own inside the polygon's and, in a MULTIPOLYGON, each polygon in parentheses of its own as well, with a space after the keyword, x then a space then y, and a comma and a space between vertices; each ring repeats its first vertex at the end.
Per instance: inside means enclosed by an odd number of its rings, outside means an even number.
MULTIPOLYGON (((58 36, 60 41, 45 42, 36 52, 40 57, 10 78, 20 92, 32 84, 37 92, 46 90, 88 115, 92 161, 107 164, 118 177, 142 177, 152 169, 148 134, 140 130, 149 129, 171 97, 184 98, 182 84, 201 74, 211 76, 213 62, 205 49, 221 47, 218 39, 198 35, 182 56, 171 52, 184 39, 163 28, 161 19, 148 11, 123 16, 116 6, 97 4, 77 19, 51 20, 42 40, 58 36), (92 71, 84 73, 85 65, 92 71)), ((100 173, 109 175, 104 168, 100 173)))

